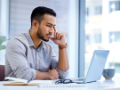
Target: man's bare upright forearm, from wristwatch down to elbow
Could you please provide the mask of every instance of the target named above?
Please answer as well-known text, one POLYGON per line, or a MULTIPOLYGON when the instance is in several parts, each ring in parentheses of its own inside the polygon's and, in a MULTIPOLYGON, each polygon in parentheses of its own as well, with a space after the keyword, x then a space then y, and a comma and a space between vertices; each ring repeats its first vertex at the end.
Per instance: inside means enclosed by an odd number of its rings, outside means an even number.
POLYGON ((66 48, 63 48, 63 49, 59 48, 58 68, 61 71, 67 71, 69 68, 66 48))

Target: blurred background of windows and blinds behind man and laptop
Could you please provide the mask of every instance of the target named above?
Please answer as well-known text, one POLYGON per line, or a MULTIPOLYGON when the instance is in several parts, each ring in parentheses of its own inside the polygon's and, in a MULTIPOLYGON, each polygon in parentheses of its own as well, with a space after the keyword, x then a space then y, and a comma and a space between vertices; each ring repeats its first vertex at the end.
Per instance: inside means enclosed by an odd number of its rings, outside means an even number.
MULTIPOLYGON (((99 49, 110 50, 105 68, 120 73, 120 0, 0 0, 0 64, 5 64, 7 42, 30 29, 37 6, 57 13, 56 28, 65 33, 68 44, 69 77, 85 76, 99 49)), ((58 47, 49 43, 58 55, 58 47)))

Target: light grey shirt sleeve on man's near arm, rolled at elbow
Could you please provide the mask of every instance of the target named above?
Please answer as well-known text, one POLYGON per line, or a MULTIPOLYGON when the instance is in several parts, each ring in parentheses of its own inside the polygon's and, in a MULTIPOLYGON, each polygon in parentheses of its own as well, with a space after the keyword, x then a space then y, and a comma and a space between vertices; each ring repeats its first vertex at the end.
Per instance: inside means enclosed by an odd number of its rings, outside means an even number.
MULTIPOLYGON (((12 72, 16 78, 33 80, 36 77, 36 71, 30 68, 25 55, 25 47, 20 41, 9 42, 6 47, 6 61, 9 63, 12 72)), ((7 73, 10 73, 7 70, 7 73)))

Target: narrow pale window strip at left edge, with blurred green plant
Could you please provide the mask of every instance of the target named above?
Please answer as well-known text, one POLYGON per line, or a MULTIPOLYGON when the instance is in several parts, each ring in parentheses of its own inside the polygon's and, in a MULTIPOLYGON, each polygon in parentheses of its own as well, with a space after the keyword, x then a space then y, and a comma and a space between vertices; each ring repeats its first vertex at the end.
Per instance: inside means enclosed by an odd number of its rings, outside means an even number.
POLYGON ((5 64, 5 47, 9 28, 9 0, 0 0, 0 64, 5 64), (1 23, 2 22, 2 23, 1 23))

